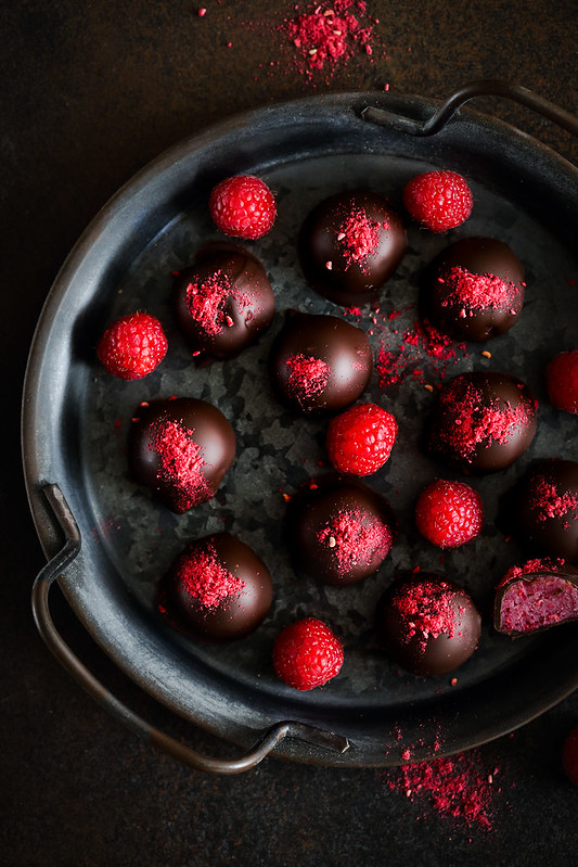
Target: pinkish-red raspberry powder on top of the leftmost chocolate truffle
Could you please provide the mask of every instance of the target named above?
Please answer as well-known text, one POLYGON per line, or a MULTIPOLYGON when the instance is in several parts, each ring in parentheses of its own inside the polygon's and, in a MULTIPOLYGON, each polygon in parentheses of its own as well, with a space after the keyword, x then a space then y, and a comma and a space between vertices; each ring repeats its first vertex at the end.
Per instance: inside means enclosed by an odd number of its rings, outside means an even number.
POLYGON ((211 492, 204 475, 202 448, 192 439, 193 431, 176 421, 156 425, 153 447, 158 455, 158 477, 180 492, 187 509, 209 499, 211 492))

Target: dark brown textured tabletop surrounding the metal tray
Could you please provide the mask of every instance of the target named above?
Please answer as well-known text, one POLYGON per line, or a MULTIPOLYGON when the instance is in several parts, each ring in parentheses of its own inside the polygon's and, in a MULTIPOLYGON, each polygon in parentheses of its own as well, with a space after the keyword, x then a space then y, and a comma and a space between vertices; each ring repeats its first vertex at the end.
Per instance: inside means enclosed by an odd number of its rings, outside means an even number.
MULTIPOLYGON (((241 777, 215 778, 178 766, 98 709, 36 634, 29 590, 43 558, 18 458, 26 356, 59 267, 124 181, 215 120, 314 92, 387 84, 393 92, 442 98, 471 79, 500 77, 578 109, 574 0, 369 0, 368 12, 380 18, 373 55, 310 80, 279 31, 292 2, 206 7, 201 17, 184 0, 2 3, 0 863, 573 864, 578 790, 562 773, 560 750, 578 722, 576 697, 476 753, 479 767, 499 768, 493 825, 483 830, 390 792, 385 772, 269 758, 241 777)), ((491 99, 476 107, 576 162, 576 142, 526 110, 491 99)), ((54 607, 97 673, 165 725, 164 711, 101 658, 57 594, 54 607)), ((172 730, 198 749, 220 749, 184 724, 172 730)))

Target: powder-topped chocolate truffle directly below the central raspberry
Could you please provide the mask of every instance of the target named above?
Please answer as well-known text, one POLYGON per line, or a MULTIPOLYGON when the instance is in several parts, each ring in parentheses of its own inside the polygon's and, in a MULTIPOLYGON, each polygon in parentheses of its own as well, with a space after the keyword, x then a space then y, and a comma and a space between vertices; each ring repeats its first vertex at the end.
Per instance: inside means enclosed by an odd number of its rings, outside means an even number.
POLYGON ((287 506, 286 539, 296 570, 333 586, 376 572, 396 528, 384 497, 361 482, 333 475, 309 483, 287 506))

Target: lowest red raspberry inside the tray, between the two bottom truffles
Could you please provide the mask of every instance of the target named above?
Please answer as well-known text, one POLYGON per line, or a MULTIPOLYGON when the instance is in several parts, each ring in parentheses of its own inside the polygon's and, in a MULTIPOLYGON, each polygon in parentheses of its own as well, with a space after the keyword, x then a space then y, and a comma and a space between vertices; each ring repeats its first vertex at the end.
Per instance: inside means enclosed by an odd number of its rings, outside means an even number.
POLYGON ((295 689, 321 687, 339 673, 343 647, 329 626, 305 617, 286 626, 273 645, 277 676, 295 689))

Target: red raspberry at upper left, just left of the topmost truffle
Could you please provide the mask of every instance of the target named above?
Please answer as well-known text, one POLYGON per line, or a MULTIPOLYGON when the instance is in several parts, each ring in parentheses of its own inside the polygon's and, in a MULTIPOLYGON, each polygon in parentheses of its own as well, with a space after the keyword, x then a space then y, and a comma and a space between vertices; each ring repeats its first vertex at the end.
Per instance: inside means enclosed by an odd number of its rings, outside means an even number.
POLYGON ((271 190, 253 175, 224 178, 210 193, 208 204, 217 228, 234 238, 262 238, 277 216, 271 190))

